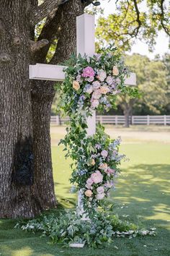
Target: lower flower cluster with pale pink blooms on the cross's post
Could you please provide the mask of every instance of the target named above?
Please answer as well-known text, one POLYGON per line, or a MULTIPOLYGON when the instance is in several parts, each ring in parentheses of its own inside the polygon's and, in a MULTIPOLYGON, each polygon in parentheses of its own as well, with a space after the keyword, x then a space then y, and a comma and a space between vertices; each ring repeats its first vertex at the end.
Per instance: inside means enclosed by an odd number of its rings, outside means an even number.
POLYGON ((94 136, 82 142, 83 146, 76 152, 76 168, 73 169, 71 182, 81 189, 84 209, 93 212, 97 206, 102 206, 102 200, 115 187, 115 179, 120 172, 118 166, 125 155, 118 152, 120 137, 110 140, 100 125, 94 136))

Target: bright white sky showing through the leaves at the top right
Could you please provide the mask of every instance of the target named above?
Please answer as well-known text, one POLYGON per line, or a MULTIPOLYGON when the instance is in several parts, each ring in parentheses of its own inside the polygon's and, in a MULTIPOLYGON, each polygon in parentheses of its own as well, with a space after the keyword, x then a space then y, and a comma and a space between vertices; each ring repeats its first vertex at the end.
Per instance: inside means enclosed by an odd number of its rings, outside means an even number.
MULTIPOLYGON (((100 1, 102 7, 104 9, 104 16, 107 17, 108 14, 112 14, 115 10, 115 0, 102 0, 100 1)), ((145 8, 144 6, 142 8, 145 8)), ((97 19, 96 19, 97 20, 97 19)), ((140 40, 136 40, 136 43, 132 47, 132 51, 130 54, 138 53, 142 55, 147 55, 149 58, 153 59, 156 54, 160 56, 164 55, 164 53, 169 52, 169 38, 163 31, 158 33, 158 38, 156 39, 156 46, 153 53, 148 51, 148 46, 145 42, 141 42, 140 40)))

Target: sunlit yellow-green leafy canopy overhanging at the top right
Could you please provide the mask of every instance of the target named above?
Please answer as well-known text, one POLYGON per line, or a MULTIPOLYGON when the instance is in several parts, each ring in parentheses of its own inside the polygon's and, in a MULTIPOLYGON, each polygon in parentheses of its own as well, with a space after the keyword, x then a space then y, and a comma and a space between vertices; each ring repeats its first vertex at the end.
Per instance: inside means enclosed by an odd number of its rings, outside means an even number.
POLYGON ((170 35, 169 1, 118 0, 115 12, 99 18, 97 39, 99 45, 114 42, 121 51, 128 51, 138 38, 153 50, 159 30, 170 35))

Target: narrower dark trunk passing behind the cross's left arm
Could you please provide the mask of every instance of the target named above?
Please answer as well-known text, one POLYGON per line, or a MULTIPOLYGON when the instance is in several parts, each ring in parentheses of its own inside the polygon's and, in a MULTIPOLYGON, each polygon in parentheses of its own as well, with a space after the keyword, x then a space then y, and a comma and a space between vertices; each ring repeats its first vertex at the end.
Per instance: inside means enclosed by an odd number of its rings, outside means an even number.
MULTIPOLYGON (((60 10, 59 10, 60 11, 60 10)), ((59 12, 58 11, 58 12, 59 12)), ((80 0, 69 1, 61 8, 61 33, 51 63, 69 59, 76 50, 76 16, 83 13, 80 0)), ((40 54, 38 60, 40 61, 40 54)), ((34 60, 36 62, 36 59, 34 60)), ((42 54, 42 61, 44 55, 42 54)), ((51 104, 55 96, 54 82, 32 81, 33 137, 35 154, 35 189, 39 191, 41 207, 56 205, 50 145, 51 104)))

